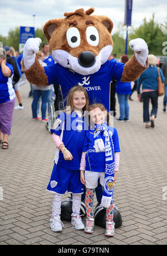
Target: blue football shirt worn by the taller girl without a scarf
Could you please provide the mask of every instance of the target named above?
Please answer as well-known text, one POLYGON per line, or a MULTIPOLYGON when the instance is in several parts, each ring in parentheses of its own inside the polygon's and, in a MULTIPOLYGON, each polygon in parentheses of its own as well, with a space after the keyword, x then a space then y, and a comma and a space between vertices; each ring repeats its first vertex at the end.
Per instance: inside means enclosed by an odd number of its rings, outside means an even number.
POLYGON ((75 111, 72 111, 71 114, 61 112, 58 116, 56 120, 57 127, 55 129, 51 129, 51 133, 61 136, 61 132, 63 132, 62 141, 65 144, 65 147, 72 154, 73 159, 65 160, 63 158, 63 154, 59 151, 58 159, 55 159, 57 166, 71 170, 80 169, 86 130, 84 121, 85 117, 78 116, 75 111))

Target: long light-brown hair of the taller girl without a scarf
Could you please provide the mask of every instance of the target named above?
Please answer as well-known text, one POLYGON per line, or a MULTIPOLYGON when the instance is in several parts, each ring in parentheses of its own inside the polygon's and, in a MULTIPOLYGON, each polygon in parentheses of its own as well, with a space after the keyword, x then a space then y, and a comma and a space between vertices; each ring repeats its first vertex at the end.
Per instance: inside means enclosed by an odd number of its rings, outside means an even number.
POLYGON ((73 111, 73 93, 75 92, 84 92, 85 94, 86 105, 83 108, 83 111, 86 111, 89 107, 89 97, 87 95, 86 89, 81 86, 74 86, 68 92, 66 110, 64 111, 66 113, 71 113, 73 111))

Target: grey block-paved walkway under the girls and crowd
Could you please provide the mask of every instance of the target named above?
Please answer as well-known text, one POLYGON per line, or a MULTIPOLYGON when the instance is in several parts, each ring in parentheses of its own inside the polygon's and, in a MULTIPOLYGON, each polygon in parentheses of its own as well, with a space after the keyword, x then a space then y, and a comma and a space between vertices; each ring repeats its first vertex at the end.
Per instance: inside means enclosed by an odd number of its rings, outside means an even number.
POLYGON ((145 129, 143 103, 137 101, 136 92, 129 102, 130 122, 114 122, 121 147, 115 205, 123 222, 113 238, 106 238, 101 227, 95 225, 94 233, 86 234, 72 229, 67 221, 63 221, 62 233, 51 231, 52 194, 46 186, 55 145, 45 125, 32 120, 29 91, 28 83, 21 87, 24 109, 14 110, 9 149, 0 149, 0 244, 167 244, 167 113, 162 111, 163 97, 159 98, 154 129, 145 129))

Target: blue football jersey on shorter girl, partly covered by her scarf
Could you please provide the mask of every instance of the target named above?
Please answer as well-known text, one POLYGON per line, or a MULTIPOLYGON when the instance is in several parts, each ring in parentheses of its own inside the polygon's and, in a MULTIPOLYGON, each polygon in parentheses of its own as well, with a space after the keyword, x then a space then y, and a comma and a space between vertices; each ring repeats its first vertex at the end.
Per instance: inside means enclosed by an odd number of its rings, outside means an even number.
MULTIPOLYGON (((114 153, 120 152, 119 136, 114 127, 109 126, 112 132, 112 140, 114 143, 114 153)), ((101 138, 105 144, 105 136, 101 132, 101 138)), ((105 172, 105 151, 96 153, 94 148, 94 130, 87 130, 85 135, 85 142, 83 152, 86 152, 86 167, 85 170, 92 172, 105 172)))

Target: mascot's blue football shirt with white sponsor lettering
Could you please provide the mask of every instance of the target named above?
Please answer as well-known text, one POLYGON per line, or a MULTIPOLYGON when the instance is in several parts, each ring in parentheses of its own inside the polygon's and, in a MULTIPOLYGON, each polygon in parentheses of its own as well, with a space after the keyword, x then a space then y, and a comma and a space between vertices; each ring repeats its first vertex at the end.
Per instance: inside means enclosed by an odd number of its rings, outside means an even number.
POLYGON ((71 69, 63 68, 56 63, 44 67, 48 84, 60 84, 63 99, 73 86, 83 86, 92 103, 102 103, 110 111, 110 82, 112 79, 121 80, 124 63, 107 60, 98 72, 91 75, 81 75, 71 69))

